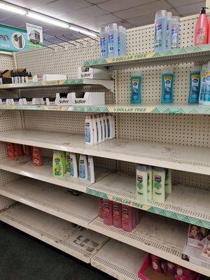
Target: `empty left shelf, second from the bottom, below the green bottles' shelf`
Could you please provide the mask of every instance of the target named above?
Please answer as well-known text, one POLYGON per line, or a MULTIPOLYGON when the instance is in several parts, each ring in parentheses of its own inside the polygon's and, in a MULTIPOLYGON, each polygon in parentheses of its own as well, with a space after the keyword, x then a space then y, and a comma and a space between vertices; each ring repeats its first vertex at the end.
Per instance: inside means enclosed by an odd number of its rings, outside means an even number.
POLYGON ((29 178, 0 186, 0 194, 85 228, 98 216, 98 199, 29 178))

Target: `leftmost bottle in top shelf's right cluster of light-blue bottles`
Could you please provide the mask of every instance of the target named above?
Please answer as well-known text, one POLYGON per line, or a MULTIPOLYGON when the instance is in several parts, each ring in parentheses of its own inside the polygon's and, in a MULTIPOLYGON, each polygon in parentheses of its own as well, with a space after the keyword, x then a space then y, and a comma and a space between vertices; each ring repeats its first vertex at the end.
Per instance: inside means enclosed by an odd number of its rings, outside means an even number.
POLYGON ((155 14, 155 50, 166 50, 167 10, 155 14))

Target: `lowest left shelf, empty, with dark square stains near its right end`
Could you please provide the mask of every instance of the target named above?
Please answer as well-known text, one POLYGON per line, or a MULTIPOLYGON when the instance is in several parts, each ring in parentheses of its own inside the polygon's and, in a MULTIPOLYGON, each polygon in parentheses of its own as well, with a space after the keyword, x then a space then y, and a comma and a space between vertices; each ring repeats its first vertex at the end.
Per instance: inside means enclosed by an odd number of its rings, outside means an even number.
POLYGON ((108 240, 91 230, 75 230, 68 221, 23 204, 15 204, 1 213, 0 221, 87 263, 108 240))

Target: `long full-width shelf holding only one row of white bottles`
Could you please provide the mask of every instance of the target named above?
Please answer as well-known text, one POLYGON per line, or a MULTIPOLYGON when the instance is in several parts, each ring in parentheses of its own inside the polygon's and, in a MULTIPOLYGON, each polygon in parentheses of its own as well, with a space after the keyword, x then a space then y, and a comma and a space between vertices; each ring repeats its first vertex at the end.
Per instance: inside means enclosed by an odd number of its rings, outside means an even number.
POLYGON ((0 141, 210 175, 209 148, 155 144, 124 139, 111 139, 102 144, 88 146, 85 145, 84 135, 41 130, 3 132, 0 134, 0 141))

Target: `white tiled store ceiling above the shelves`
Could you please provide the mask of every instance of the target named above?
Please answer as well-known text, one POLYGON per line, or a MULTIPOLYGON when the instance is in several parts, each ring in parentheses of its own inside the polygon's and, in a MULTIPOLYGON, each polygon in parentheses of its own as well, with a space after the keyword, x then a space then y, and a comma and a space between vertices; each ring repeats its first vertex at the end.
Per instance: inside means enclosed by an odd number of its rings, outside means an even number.
MULTIPOLYGON (((157 10, 166 9, 173 15, 182 17, 199 13, 200 8, 205 6, 205 1, 198 0, 7 0, 5 2, 94 31, 99 31, 100 27, 111 22, 117 22, 118 25, 126 28, 148 25, 154 22, 157 10)), ((0 24, 25 29, 26 22, 41 25, 45 38, 52 43, 61 42, 54 36, 63 34, 65 29, 0 10, 0 24)), ((72 36, 69 31, 65 34, 72 36)))

